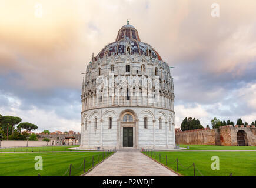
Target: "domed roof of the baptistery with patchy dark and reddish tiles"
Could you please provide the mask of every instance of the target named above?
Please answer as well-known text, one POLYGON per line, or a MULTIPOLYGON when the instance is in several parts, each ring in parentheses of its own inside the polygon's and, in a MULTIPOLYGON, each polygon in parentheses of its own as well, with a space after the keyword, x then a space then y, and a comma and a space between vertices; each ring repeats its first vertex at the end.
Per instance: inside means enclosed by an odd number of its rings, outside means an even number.
POLYGON ((152 48, 151 45, 141 42, 137 29, 129 24, 129 21, 127 21, 127 24, 119 29, 115 42, 109 43, 107 46, 105 46, 101 52, 98 53, 95 60, 97 60, 98 57, 102 58, 104 54, 106 56, 111 56, 111 53, 113 53, 113 55, 126 54, 128 48, 128 52, 131 55, 136 53, 138 55, 145 54, 145 56, 151 56, 152 58, 157 58, 162 61, 161 56, 157 53, 157 51, 155 51, 154 48, 152 48))

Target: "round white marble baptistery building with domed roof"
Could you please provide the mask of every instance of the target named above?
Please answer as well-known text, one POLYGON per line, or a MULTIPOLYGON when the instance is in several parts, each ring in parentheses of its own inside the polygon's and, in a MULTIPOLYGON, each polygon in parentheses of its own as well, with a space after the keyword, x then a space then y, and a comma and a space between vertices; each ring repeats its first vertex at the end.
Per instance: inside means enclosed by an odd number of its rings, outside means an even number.
POLYGON ((82 82, 81 149, 175 147, 174 81, 134 26, 92 53, 82 82))

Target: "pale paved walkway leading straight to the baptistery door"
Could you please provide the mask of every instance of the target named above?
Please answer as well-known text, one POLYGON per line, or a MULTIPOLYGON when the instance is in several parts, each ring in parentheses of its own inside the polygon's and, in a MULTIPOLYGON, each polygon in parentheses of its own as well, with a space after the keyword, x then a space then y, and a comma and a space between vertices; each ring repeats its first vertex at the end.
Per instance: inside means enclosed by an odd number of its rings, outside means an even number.
POLYGON ((178 176, 139 151, 117 151, 85 176, 178 176))

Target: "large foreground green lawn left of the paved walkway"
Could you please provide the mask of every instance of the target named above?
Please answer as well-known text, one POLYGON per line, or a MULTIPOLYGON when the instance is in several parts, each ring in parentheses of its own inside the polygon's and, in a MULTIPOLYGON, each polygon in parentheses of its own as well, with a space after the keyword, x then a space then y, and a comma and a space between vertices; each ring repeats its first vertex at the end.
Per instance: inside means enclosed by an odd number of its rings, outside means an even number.
MULTIPOLYGON (((107 156, 104 152, 104 159, 107 156)), ((65 176, 69 175, 69 166, 72 163, 71 176, 85 172, 102 160, 103 152, 63 152, 63 153, 0 153, 0 176, 65 176), (35 170, 35 156, 42 156, 43 170, 35 170)), ((110 152, 109 152, 110 154, 110 152)))

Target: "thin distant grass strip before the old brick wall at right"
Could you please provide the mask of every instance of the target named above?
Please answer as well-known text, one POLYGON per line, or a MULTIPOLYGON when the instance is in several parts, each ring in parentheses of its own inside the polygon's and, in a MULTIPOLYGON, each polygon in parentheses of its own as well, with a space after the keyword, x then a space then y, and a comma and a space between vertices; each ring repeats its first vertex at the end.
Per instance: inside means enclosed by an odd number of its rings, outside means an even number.
POLYGON ((256 146, 180 145, 188 150, 256 150, 256 146))

